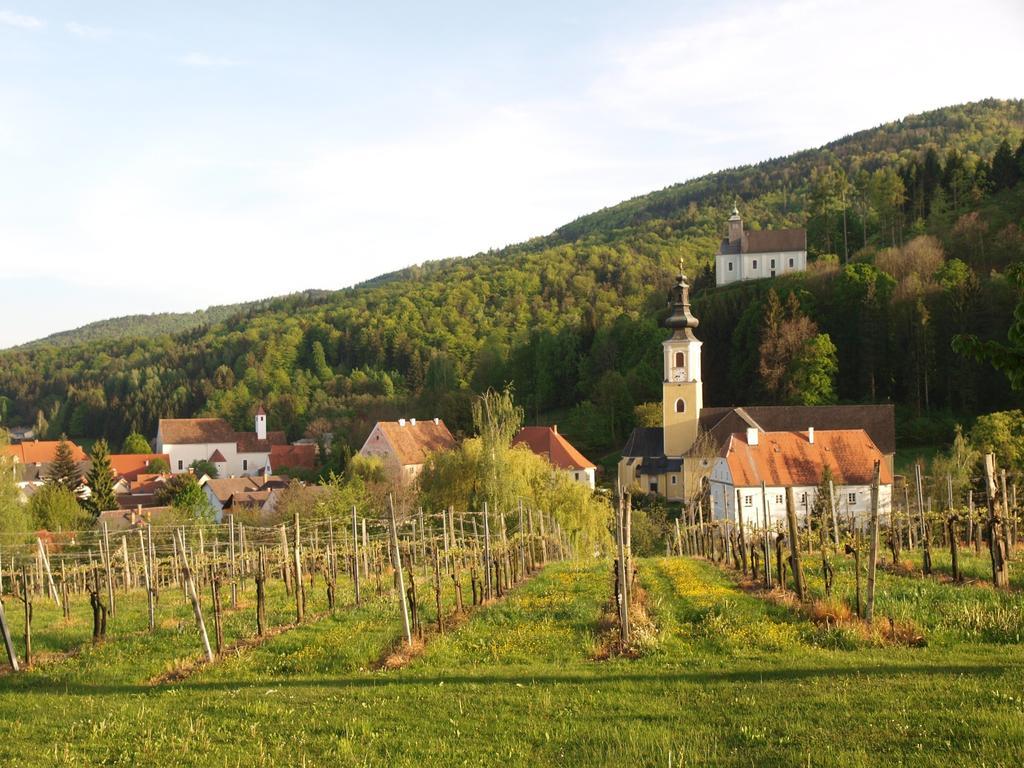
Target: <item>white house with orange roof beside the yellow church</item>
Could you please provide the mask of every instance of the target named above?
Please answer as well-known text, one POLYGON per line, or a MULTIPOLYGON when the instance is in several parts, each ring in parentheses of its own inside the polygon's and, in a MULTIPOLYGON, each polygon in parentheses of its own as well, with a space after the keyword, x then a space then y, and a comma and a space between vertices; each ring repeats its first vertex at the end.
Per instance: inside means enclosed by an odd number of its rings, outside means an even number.
POLYGON ((893 473, 885 455, 863 429, 765 432, 749 427, 729 437, 709 478, 716 519, 773 526, 785 521, 786 493, 793 488, 798 519, 817 501, 825 468, 831 472, 827 509, 841 524, 862 526, 871 505, 874 464, 879 463, 879 513, 892 510, 893 473))

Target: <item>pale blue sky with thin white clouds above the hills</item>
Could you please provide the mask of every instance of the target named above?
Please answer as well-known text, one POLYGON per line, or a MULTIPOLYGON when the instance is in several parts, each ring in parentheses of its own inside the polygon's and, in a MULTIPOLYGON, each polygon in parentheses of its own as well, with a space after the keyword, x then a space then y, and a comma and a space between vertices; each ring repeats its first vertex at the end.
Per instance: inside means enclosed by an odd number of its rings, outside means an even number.
POLYGON ((1020 0, 0 0, 0 348, 1024 96, 1020 0))

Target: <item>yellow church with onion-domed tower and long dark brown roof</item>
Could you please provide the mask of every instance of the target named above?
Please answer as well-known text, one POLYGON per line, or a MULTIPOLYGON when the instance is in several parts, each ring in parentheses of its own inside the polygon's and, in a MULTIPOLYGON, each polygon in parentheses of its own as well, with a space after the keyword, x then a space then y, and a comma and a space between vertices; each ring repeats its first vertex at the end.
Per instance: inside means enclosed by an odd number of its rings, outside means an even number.
MULTIPOLYGON (((733 438, 751 434, 749 430, 758 434, 819 435, 834 430, 862 430, 880 454, 888 475, 892 475, 896 451, 892 406, 705 408, 701 342, 694 335, 698 324, 690 312, 689 286, 681 266, 669 303, 672 314, 666 326, 672 337, 662 344, 662 426, 633 430, 618 462, 620 487, 663 496, 672 502, 688 501, 701 489, 697 483, 703 483, 716 460, 728 456, 733 438)), ((797 451, 795 442, 780 439, 776 443, 778 461, 800 460, 799 452, 791 453, 797 451)), ((863 454, 857 456, 858 461, 867 462, 863 454)), ((867 462, 868 469, 871 466, 867 462)), ((847 467, 845 471, 854 473, 855 469, 847 467)), ((858 467, 856 471, 864 470, 858 467)), ((726 510, 723 507, 719 511, 725 514, 726 510)))

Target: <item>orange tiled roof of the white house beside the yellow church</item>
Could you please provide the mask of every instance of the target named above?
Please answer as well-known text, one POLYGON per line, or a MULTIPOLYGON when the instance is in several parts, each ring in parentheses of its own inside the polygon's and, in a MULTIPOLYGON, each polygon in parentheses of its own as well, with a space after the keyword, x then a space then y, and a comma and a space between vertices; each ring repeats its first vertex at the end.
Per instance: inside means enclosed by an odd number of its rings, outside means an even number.
POLYGON ((814 442, 807 432, 763 432, 756 445, 746 441, 745 432, 736 432, 723 456, 736 486, 817 485, 826 466, 841 485, 867 485, 876 461, 880 482, 893 481, 889 463, 863 429, 815 429, 814 442))

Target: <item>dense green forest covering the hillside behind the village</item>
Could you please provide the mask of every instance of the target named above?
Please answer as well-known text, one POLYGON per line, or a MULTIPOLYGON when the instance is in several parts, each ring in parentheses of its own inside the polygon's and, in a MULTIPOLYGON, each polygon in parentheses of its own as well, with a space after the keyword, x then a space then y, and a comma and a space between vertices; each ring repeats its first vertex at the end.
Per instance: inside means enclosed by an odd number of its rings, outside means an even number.
POLYGON ((660 397, 659 323, 682 259, 707 404, 892 400, 902 438, 944 439, 956 420, 1020 404, 950 340, 1006 338, 1019 299, 1007 268, 1024 261, 1022 139, 1024 101, 942 109, 501 251, 175 333, 7 350, 0 417, 119 444, 155 434, 161 417, 249 427, 262 402, 293 438, 334 432, 357 447, 399 415, 468 431, 472 394, 513 382, 527 421, 557 419, 597 458, 622 444, 638 403, 660 397), (734 203, 751 228, 806 226, 808 272, 714 289, 734 203))

